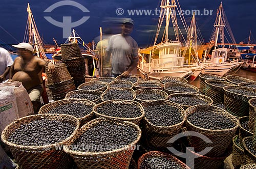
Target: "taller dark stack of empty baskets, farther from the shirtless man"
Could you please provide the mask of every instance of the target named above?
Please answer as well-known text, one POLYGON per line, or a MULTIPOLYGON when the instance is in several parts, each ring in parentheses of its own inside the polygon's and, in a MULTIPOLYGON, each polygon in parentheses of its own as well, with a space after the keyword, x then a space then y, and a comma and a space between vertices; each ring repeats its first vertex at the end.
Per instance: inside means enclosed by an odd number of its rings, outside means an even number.
POLYGON ((77 43, 61 44, 61 62, 66 64, 76 88, 85 82, 86 66, 77 43))

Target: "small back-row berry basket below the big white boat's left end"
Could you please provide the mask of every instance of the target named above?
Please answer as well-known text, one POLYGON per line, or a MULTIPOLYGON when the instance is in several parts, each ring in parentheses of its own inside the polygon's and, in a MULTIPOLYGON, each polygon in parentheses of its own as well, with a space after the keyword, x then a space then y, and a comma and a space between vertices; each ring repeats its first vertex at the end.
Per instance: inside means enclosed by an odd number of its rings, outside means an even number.
POLYGON ((136 90, 138 89, 159 89, 162 90, 164 88, 164 85, 157 80, 143 80, 143 81, 138 81, 134 83, 134 88, 136 90), (155 87, 146 87, 147 85, 154 85, 155 87))

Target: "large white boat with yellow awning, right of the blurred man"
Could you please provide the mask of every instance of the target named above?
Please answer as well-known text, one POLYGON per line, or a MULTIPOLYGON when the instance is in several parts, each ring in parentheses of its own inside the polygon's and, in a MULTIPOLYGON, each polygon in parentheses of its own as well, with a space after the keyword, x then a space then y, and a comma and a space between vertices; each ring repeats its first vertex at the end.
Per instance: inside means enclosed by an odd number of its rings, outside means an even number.
MULTIPOLYGON (((160 5, 161 12, 158 21, 158 28, 154 45, 140 50, 142 61, 140 61, 139 72, 143 79, 159 80, 164 76, 188 77, 191 74, 198 74, 202 71, 202 66, 197 64, 184 65, 185 57, 181 54, 182 43, 180 41, 180 29, 177 24, 176 1, 163 0, 160 5), (163 38, 157 44, 160 29, 165 20, 165 29, 163 38), (173 23, 175 40, 169 39, 169 22, 173 23), (149 61, 145 62, 145 57, 149 57, 149 61)), ((181 11, 181 10, 179 10, 181 11)), ((181 15, 180 15, 181 17, 181 15)), ((184 20, 184 18, 181 18, 184 20)), ((181 33, 180 33, 181 34, 181 33)))

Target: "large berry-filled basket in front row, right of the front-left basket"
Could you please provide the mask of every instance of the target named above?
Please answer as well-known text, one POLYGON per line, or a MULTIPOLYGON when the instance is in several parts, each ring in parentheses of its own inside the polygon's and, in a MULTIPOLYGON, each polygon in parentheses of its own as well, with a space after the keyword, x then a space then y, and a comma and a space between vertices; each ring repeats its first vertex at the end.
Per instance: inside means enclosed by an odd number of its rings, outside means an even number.
POLYGON ((78 168, 127 169, 140 137, 134 123, 98 118, 82 126, 63 149, 78 168))

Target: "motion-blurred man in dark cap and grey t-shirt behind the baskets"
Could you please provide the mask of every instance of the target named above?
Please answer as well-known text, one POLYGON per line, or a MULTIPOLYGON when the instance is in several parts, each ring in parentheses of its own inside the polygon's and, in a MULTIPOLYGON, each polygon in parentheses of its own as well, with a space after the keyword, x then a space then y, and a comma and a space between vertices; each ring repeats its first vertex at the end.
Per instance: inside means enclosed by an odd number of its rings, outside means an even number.
POLYGON ((134 21, 125 18, 122 22, 122 33, 113 35, 106 48, 106 61, 112 58, 112 74, 114 77, 122 75, 129 76, 131 71, 137 67, 138 63, 138 44, 130 36, 134 28, 134 21))

